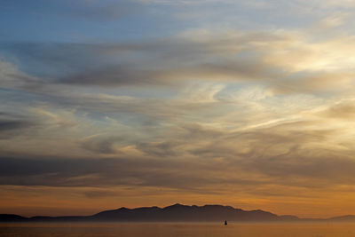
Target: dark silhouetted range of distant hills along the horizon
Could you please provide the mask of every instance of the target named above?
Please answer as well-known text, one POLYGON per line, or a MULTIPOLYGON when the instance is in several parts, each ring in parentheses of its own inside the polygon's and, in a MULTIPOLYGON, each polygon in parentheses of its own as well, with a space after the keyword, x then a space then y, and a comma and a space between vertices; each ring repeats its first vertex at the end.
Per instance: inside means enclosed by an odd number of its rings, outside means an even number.
POLYGON ((261 209, 243 210, 222 205, 187 206, 178 203, 165 208, 143 207, 136 209, 111 209, 92 216, 83 217, 21 217, 12 214, 0 214, 0 222, 223 222, 224 220, 235 222, 355 221, 355 216, 332 217, 328 219, 301 219, 290 215, 278 216, 261 209))

